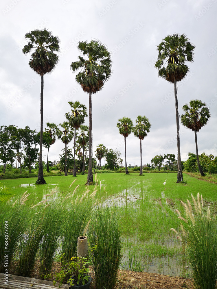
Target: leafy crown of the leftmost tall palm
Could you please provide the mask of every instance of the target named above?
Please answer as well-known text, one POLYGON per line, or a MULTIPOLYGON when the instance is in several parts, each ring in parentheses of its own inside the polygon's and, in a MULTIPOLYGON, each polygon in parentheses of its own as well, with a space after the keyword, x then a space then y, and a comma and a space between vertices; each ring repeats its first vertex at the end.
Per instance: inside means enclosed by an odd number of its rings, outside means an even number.
POLYGON ((39 75, 51 72, 58 63, 58 56, 55 52, 59 51, 59 39, 52 36, 51 32, 35 29, 25 35, 28 44, 23 47, 23 53, 28 54, 32 49, 29 65, 39 75))

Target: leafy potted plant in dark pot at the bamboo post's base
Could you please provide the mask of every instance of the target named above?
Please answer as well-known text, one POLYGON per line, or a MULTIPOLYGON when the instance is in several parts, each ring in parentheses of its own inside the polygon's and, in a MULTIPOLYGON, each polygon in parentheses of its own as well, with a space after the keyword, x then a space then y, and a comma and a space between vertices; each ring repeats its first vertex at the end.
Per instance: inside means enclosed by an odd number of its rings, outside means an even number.
POLYGON ((55 273, 53 276, 51 274, 42 274, 44 279, 51 278, 53 279, 54 286, 58 282, 59 288, 63 284, 63 282, 67 279, 67 283, 70 285, 69 289, 89 289, 92 278, 89 273, 88 258, 82 257, 71 257, 70 262, 65 263, 62 261, 62 257, 65 253, 61 256, 62 268, 61 271, 55 273), (70 278, 69 278, 70 276, 70 278))

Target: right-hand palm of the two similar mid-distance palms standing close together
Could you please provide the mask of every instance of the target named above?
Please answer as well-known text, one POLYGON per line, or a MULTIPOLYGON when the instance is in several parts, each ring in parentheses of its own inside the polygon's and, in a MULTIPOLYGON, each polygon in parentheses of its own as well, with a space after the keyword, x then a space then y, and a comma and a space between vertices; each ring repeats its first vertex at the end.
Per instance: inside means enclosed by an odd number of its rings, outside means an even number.
POLYGON ((132 131, 134 135, 140 140, 140 172, 139 175, 142 175, 142 140, 147 136, 147 133, 150 132, 151 123, 149 122, 146 116, 138 115, 136 119, 137 125, 133 127, 132 131))

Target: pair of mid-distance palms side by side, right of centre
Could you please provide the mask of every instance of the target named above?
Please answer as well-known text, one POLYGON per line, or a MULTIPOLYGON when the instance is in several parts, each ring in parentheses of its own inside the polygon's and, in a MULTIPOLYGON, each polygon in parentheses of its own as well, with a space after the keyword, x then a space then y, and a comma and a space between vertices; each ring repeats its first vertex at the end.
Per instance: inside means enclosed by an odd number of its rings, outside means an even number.
POLYGON ((129 136, 131 131, 134 135, 140 140, 140 172, 139 175, 142 175, 142 140, 147 136, 147 133, 150 132, 151 123, 149 122, 146 116, 137 116, 136 125, 133 126, 133 122, 128 117, 123 117, 118 120, 117 127, 119 128, 119 133, 124 136, 124 147, 125 147, 125 173, 129 173, 127 168, 126 161, 126 138, 129 136))

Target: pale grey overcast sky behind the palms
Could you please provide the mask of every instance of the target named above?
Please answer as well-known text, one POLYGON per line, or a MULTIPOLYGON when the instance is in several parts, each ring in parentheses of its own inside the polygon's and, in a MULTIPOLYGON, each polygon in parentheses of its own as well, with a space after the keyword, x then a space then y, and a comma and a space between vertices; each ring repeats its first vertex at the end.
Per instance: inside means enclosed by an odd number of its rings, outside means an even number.
MULTIPOLYGON (((169 34, 185 34, 196 46, 190 73, 178 83, 179 113, 192 99, 206 102, 209 123, 198 133, 199 154, 217 155, 217 0, 3 0, 0 3, 0 125, 40 129, 41 79, 23 55, 25 34, 46 27, 60 39, 54 71, 44 76, 44 123, 65 121, 68 101, 88 107, 88 94, 70 70, 78 60, 79 41, 99 39, 112 52, 113 74, 102 91, 92 95, 93 151, 100 143, 124 155, 124 137, 117 122, 141 114, 152 126, 142 141, 143 164, 157 154, 176 154, 173 84, 158 77, 157 47, 169 34), (115 99, 116 97, 116 99, 115 99)), ((88 118, 86 123, 88 125, 88 118)), ((181 125, 181 160, 195 152, 194 132, 181 125)), ((139 139, 126 139, 127 163, 140 164, 139 139)), ((73 146, 73 143, 70 144, 73 146)), ((49 160, 59 159, 64 144, 57 140, 49 160)), ((43 151, 46 160, 47 151, 43 151)))

